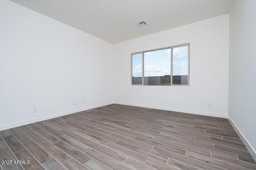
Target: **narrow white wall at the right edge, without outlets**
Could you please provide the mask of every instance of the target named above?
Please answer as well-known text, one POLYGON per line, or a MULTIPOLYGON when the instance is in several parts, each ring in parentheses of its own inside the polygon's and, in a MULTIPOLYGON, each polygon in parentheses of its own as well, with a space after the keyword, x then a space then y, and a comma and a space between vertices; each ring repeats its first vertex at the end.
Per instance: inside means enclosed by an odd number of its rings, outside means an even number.
POLYGON ((228 116, 256 159, 256 1, 236 0, 230 11, 228 116))

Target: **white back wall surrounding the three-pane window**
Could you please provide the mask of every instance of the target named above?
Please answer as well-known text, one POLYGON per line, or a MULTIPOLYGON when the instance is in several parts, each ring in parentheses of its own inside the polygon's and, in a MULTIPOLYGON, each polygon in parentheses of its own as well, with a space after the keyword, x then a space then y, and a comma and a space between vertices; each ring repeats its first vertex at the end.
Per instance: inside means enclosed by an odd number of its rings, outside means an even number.
POLYGON ((229 14, 117 43, 115 103, 227 117, 228 48, 229 14), (190 86, 131 85, 130 53, 184 43, 190 43, 190 86))

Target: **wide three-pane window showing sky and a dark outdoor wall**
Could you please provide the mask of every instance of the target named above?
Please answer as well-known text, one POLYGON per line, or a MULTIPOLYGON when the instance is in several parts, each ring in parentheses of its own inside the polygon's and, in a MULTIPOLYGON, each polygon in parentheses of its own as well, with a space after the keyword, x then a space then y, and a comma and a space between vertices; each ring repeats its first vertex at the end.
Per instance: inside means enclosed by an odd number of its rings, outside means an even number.
POLYGON ((132 85, 189 85, 189 44, 132 54, 132 85))

